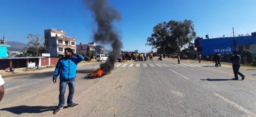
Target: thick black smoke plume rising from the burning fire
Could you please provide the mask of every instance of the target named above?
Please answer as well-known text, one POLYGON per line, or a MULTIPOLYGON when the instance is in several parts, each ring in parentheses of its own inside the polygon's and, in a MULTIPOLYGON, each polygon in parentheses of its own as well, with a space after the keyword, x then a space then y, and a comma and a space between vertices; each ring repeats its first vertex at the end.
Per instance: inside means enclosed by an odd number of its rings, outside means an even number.
POLYGON ((100 64, 100 69, 105 69, 105 72, 110 72, 114 68, 117 55, 119 55, 123 44, 120 36, 113 27, 113 22, 121 21, 121 13, 115 8, 108 5, 108 0, 84 0, 85 5, 91 10, 94 15, 98 29, 93 35, 96 42, 102 44, 111 44, 112 51, 105 63, 100 64))

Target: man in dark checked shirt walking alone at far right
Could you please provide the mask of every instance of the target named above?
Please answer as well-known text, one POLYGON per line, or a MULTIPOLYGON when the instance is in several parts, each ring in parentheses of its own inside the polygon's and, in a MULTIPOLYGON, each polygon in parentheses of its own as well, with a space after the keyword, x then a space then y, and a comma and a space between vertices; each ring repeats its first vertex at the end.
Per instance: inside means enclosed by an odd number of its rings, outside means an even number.
POLYGON ((238 75, 242 77, 242 80, 244 80, 245 76, 239 72, 241 56, 237 54, 237 51, 233 51, 232 54, 233 57, 230 58, 230 60, 232 61, 233 72, 235 75, 235 78, 233 78, 232 80, 238 80, 238 75))

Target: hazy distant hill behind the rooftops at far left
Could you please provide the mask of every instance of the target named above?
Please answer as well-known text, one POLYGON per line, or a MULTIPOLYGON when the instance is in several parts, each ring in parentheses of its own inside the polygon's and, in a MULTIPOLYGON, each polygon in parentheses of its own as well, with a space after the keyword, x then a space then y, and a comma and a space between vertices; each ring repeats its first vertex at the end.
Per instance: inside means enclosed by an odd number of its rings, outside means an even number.
POLYGON ((7 41, 7 44, 11 45, 11 47, 7 47, 8 51, 22 51, 27 46, 26 43, 19 41, 7 41))

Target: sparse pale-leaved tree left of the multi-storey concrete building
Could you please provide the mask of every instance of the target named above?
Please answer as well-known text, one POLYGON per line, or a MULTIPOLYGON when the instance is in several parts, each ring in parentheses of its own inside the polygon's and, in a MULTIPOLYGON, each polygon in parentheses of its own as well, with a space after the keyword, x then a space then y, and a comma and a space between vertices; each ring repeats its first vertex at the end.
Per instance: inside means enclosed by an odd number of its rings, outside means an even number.
POLYGON ((41 56, 45 51, 45 46, 43 44, 44 36, 40 34, 28 34, 27 39, 29 40, 28 48, 26 48, 27 53, 32 56, 41 56))

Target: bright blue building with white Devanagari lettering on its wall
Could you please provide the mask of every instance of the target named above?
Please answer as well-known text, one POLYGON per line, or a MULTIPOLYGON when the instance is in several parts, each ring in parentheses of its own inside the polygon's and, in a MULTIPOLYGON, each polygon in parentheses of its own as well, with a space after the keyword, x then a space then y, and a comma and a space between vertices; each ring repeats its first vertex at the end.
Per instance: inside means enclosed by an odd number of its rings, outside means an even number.
MULTIPOLYGON (((250 45, 254 46, 256 43, 256 36, 238 36, 235 37, 237 51, 241 50, 241 47, 248 45, 242 49, 254 50, 250 45), (251 48, 251 49, 249 49, 251 48)), ((195 39, 195 47, 198 47, 198 51, 202 55, 214 55, 215 52, 219 52, 221 55, 232 54, 234 48, 234 37, 223 37, 223 38, 211 38, 211 39, 195 39)), ((252 52, 254 54, 254 52, 252 52)))

